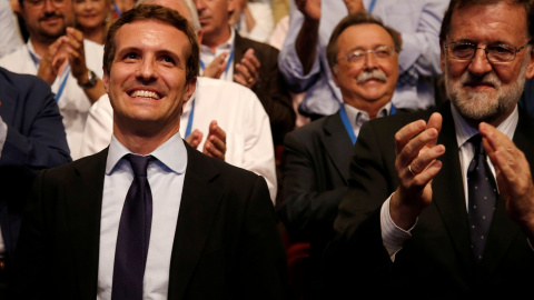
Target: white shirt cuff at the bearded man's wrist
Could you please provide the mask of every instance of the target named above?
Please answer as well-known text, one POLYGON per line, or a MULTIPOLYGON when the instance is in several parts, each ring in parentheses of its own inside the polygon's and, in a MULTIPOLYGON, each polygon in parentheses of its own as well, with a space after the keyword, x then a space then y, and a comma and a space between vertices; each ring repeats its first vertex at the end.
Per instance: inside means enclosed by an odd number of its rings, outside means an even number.
POLYGON ((411 232, 412 229, 414 229, 414 227, 417 224, 417 221, 411 229, 408 229, 408 231, 397 227, 395 222, 393 222, 392 216, 389 214, 389 200, 392 199, 392 196, 389 196, 384 204, 382 204, 380 229, 383 244, 389 253, 392 261, 395 261, 395 254, 403 249, 403 243, 412 238, 411 232))

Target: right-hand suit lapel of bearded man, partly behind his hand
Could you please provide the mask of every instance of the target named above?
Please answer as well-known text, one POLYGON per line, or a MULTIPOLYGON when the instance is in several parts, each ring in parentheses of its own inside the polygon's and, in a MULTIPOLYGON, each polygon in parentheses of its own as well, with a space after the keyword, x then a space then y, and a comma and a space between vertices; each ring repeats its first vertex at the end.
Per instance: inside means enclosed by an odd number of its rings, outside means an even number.
MULTIPOLYGON (((534 143, 532 142, 532 132, 534 123, 523 110, 520 110, 520 121, 514 132, 514 143, 520 148, 526 157, 526 160, 534 161, 534 143)), ((533 166, 531 164, 531 173, 533 166)), ((490 272, 496 270, 501 261, 504 259, 508 248, 511 247, 521 229, 516 222, 512 221, 506 214, 506 207, 503 199, 498 198, 495 206, 495 212, 490 229, 490 237, 486 244, 486 251, 483 259, 483 266, 490 272)), ((526 239, 526 238, 525 238, 526 239)))

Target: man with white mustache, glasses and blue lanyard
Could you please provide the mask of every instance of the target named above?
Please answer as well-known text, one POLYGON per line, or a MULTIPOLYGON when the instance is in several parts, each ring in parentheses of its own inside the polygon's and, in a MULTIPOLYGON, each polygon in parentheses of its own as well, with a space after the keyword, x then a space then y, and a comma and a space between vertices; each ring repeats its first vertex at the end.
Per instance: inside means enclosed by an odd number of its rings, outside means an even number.
POLYGON ((395 113, 390 100, 398 78, 398 51, 395 30, 367 13, 347 16, 327 47, 344 104, 335 114, 286 134, 284 201, 278 216, 291 238, 310 242, 313 272, 305 279, 305 299, 329 299, 320 278, 322 251, 334 234, 362 124, 395 113))

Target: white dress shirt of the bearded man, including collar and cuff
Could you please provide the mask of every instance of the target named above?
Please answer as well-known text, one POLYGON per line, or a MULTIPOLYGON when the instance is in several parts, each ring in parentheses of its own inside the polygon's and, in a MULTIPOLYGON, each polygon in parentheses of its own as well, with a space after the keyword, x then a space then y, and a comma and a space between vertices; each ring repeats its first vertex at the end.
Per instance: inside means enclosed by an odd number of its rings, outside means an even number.
MULTIPOLYGON (((454 129, 456 130, 456 141, 458 144, 458 154, 459 154, 459 164, 462 168, 462 180, 464 182, 464 196, 465 196, 465 209, 467 210, 468 206, 468 193, 467 193, 467 169, 469 168, 469 162, 473 160, 474 148, 471 142, 467 142, 471 137, 478 133, 478 129, 472 128, 468 126, 465 120, 459 116, 459 112, 451 103, 451 111, 454 119, 454 129)), ((501 124, 498 124, 498 131, 503 132, 510 139, 514 138, 514 132, 517 127, 518 121, 518 111, 517 107, 512 112, 508 118, 506 118, 501 124)), ((447 149, 447 151, 454 151, 455 149, 447 149)), ((493 176, 495 177, 495 167, 493 167, 492 161, 487 158, 487 163, 492 169, 493 176)), ((395 254, 403 248, 403 243, 412 237, 409 233, 412 229, 417 224, 415 223, 409 230, 403 230, 397 227, 389 214, 389 200, 392 197, 384 202, 380 210, 380 226, 382 226, 382 239, 384 247, 387 249, 392 260, 395 259, 395 254)))

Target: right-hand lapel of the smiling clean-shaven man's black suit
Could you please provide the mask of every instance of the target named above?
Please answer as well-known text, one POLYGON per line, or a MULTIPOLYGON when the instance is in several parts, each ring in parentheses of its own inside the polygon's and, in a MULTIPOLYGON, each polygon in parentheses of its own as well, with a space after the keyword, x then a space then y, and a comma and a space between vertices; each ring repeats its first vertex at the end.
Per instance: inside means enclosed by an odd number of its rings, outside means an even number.
POLYGON ((168 299, 182 299, 222 197, 217 167, 187 146, 188 163, 170 259, 168 299))

